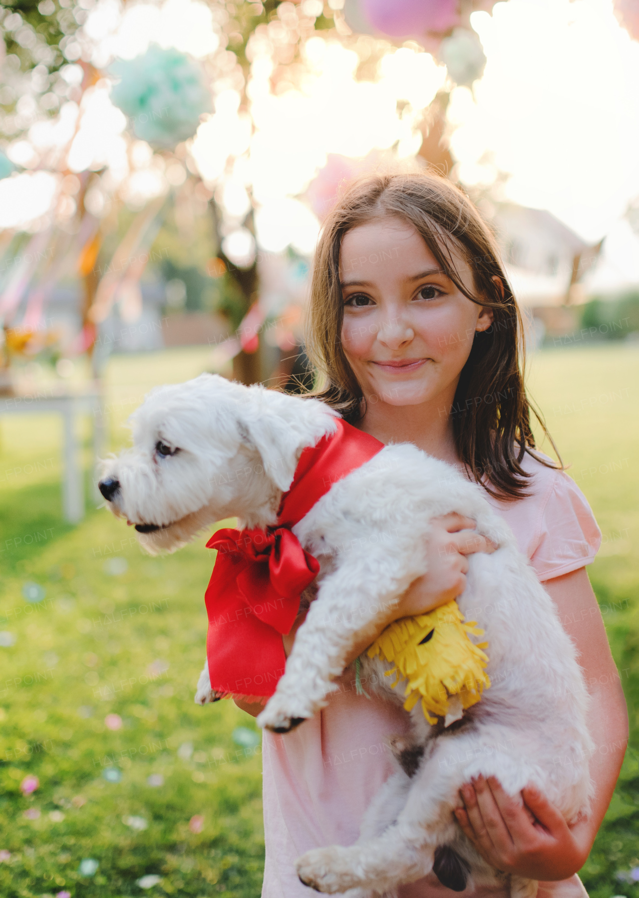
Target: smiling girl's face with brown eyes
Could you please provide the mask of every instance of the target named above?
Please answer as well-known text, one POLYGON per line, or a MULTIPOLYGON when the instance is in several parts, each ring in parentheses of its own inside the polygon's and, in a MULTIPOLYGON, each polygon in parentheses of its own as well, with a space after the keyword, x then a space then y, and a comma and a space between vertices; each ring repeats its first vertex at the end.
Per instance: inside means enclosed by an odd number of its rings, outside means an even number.
MULTIPOLYGON (((473 277, 459 255, 468 292, 473 277)), ((477 330, 492 310, 471 303, 443 274, 415 228, 385 217, 348 231, 339 277, 342 345, 364 397, 372 403, 452 402, 477 330)))

